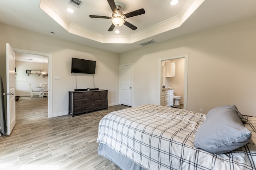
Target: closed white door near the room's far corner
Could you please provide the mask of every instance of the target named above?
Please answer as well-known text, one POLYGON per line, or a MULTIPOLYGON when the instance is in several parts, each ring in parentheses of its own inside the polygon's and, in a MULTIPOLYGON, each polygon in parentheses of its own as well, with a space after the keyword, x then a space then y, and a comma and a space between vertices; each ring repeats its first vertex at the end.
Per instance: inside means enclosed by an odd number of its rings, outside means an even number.
POLYGON ((132 106, 132 65, 120 66, 120 104, 132 106))

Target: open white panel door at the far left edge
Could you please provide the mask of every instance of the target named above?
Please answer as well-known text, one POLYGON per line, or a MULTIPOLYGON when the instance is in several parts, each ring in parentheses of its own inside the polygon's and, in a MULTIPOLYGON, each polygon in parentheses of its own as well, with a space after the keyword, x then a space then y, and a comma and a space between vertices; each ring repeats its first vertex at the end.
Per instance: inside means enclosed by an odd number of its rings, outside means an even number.
POLYGON ((15 52, 6 43, 6 96, 7 96, 7 135, 10 135, 16 123, 15 112, 15 52))

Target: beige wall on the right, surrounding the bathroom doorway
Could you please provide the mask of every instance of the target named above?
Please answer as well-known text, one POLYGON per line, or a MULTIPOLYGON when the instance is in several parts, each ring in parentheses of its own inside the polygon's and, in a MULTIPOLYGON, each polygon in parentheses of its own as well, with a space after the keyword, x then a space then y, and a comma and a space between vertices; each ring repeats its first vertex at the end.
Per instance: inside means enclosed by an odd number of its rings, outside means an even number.
POLYGON ((230 23, 120 55, 133 63, 134 105, 160 104, 160 64, 165 57, 188 54, 187 109, 207 113, 235 104, 256 116, 256 18, 230 23))

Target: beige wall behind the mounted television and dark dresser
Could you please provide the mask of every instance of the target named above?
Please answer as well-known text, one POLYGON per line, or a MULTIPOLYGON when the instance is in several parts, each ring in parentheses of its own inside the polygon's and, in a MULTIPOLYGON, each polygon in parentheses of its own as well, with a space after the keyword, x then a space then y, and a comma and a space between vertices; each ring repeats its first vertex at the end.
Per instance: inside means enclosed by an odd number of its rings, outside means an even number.
MULTIPOLYGON (((96 61, 96 88, 108 90, 108 103, 119 103, 119 55, 0 23, 0 75, 6 86, 6 43, 14 48, 52 54, 53 116, 68 114, 68 91, 76 88, 71 58, 96 61)), ((77 74, 77 88, 94 88, 90 74, 77 74)), ((6 87, 4 87, 6 90, 6 87)), ((51 90, 51 89, 50 89, 51 90)))

